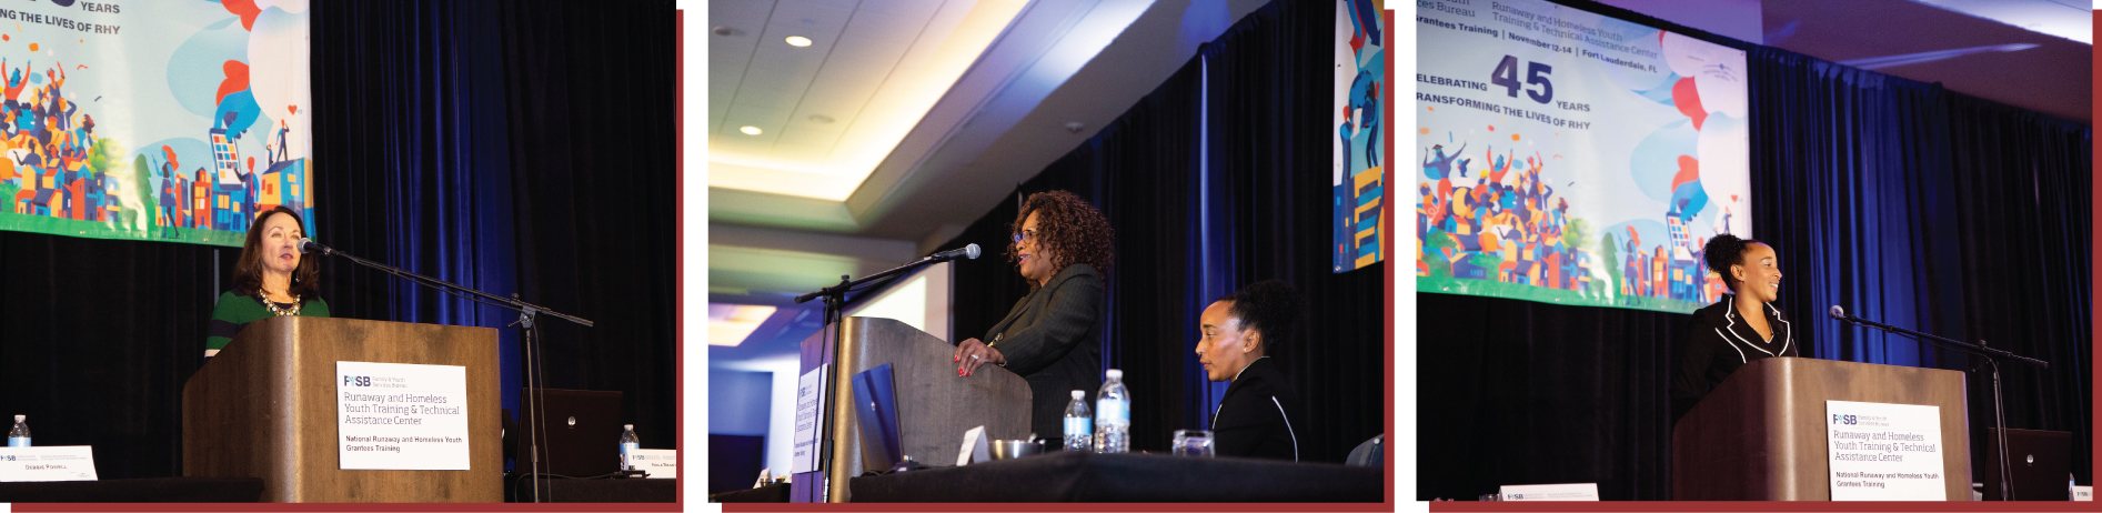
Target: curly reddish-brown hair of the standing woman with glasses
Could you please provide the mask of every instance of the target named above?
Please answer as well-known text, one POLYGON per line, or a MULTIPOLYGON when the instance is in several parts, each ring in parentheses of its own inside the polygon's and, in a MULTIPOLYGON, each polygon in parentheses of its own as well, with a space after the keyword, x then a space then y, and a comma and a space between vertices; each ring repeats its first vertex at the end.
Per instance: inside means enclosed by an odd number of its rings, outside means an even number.
MULTIPOLYGON (((1116 250, 1110 248, 1116 240, 1116 229, 1110 227, 1110 219, 1101 217, 1101 210, 1095 210, 1095 206, 1070 191, 1030 193, 1009 229, 1022 233, 1022 223, 1030 214, 1036 214, 1036 235, 1032 240, 1038 248, 1049 248, 1053 254, 1051 269, 1085 263, 1104 275, 1110 273, 1110 263, 1116 261, 1116 250)), ((1015 246, 1013 242, 1007 244, 1007 263, 1022 261, 1015 246)), ((1030 288, 1036 288, 1036 284, 1030 282, 1030 288)))

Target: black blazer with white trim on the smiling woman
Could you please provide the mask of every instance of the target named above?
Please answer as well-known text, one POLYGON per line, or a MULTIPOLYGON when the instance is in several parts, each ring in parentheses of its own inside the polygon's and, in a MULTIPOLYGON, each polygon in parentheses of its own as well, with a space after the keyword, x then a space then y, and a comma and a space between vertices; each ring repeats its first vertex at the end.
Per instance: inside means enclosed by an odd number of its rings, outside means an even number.
POLYGON ((1686 324, 1686 334, 1679 338, 1679 368, 1671 376, 1673 425, 1724 378, 1730 378, 1736 368, 1759 357, 1801 355, 1804 345, 1810 345, 1804 338, 1808 326, 1795 328, 1774 303, 1766 303, 1766 326, 1772 326, 1774 338, 1759 338, 1759 332, 1736 313, 1732 301, 1736 301, 1734 294, 1724 294, 1715 305, 1694 311, 1692 322, 1686 324))

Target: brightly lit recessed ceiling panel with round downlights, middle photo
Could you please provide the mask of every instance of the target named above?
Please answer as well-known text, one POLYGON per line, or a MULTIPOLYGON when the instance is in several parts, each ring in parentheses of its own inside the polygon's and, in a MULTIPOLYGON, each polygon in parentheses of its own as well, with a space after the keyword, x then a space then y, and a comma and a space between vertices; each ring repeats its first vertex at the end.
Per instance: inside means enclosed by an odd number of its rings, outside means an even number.
POLYGON ((1022 6, 708 4, 708 185, 845 200, 1022 6))

